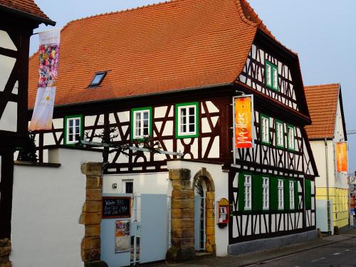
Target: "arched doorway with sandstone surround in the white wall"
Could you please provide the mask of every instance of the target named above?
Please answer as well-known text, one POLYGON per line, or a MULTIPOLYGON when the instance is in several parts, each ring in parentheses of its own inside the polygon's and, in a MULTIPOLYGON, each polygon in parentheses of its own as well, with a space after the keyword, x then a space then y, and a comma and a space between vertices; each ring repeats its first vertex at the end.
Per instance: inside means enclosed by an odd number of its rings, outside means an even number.
POLYGON ((194 189, 194 248, 196 251, 215 252, 215 187, 214 181, 201 168, 193 179, 194 189))

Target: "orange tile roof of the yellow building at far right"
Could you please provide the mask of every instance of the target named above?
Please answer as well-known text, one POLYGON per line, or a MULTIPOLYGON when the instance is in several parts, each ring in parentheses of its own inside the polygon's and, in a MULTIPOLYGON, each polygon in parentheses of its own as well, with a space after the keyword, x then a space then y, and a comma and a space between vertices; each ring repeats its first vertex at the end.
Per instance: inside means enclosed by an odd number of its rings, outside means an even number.
POLYGON ((309 139, 333 138, 340 85, 305 86, 311 125, 305 126, 309 139))

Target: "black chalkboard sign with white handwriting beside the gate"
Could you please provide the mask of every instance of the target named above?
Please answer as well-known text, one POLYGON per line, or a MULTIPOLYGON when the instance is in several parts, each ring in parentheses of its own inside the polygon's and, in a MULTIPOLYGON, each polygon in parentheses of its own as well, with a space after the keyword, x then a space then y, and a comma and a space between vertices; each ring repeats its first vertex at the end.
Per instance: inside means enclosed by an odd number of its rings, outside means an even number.
POLYGON ((103 197, 103 218, 131 216, 131 197, 103 197))

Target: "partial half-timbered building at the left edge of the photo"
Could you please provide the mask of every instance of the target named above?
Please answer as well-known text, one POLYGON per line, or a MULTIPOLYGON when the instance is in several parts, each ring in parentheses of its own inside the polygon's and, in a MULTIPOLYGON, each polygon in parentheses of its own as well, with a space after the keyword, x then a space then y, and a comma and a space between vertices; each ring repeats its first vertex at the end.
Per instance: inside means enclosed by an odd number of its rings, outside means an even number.
POLYGON ((55 24, 33 0, 0 1, 0 241, 11 237, 14 151, 27 136, 28 48, 41 23, 55 24))

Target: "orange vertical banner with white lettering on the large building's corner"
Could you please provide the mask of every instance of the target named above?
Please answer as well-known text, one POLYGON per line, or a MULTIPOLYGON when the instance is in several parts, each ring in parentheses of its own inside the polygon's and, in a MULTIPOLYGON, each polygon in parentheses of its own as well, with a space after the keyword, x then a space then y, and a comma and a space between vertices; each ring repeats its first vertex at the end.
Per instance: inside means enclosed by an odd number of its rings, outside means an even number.
POLYGON ((253 147, 251 95, 235 98, 235 148, 253 147))

